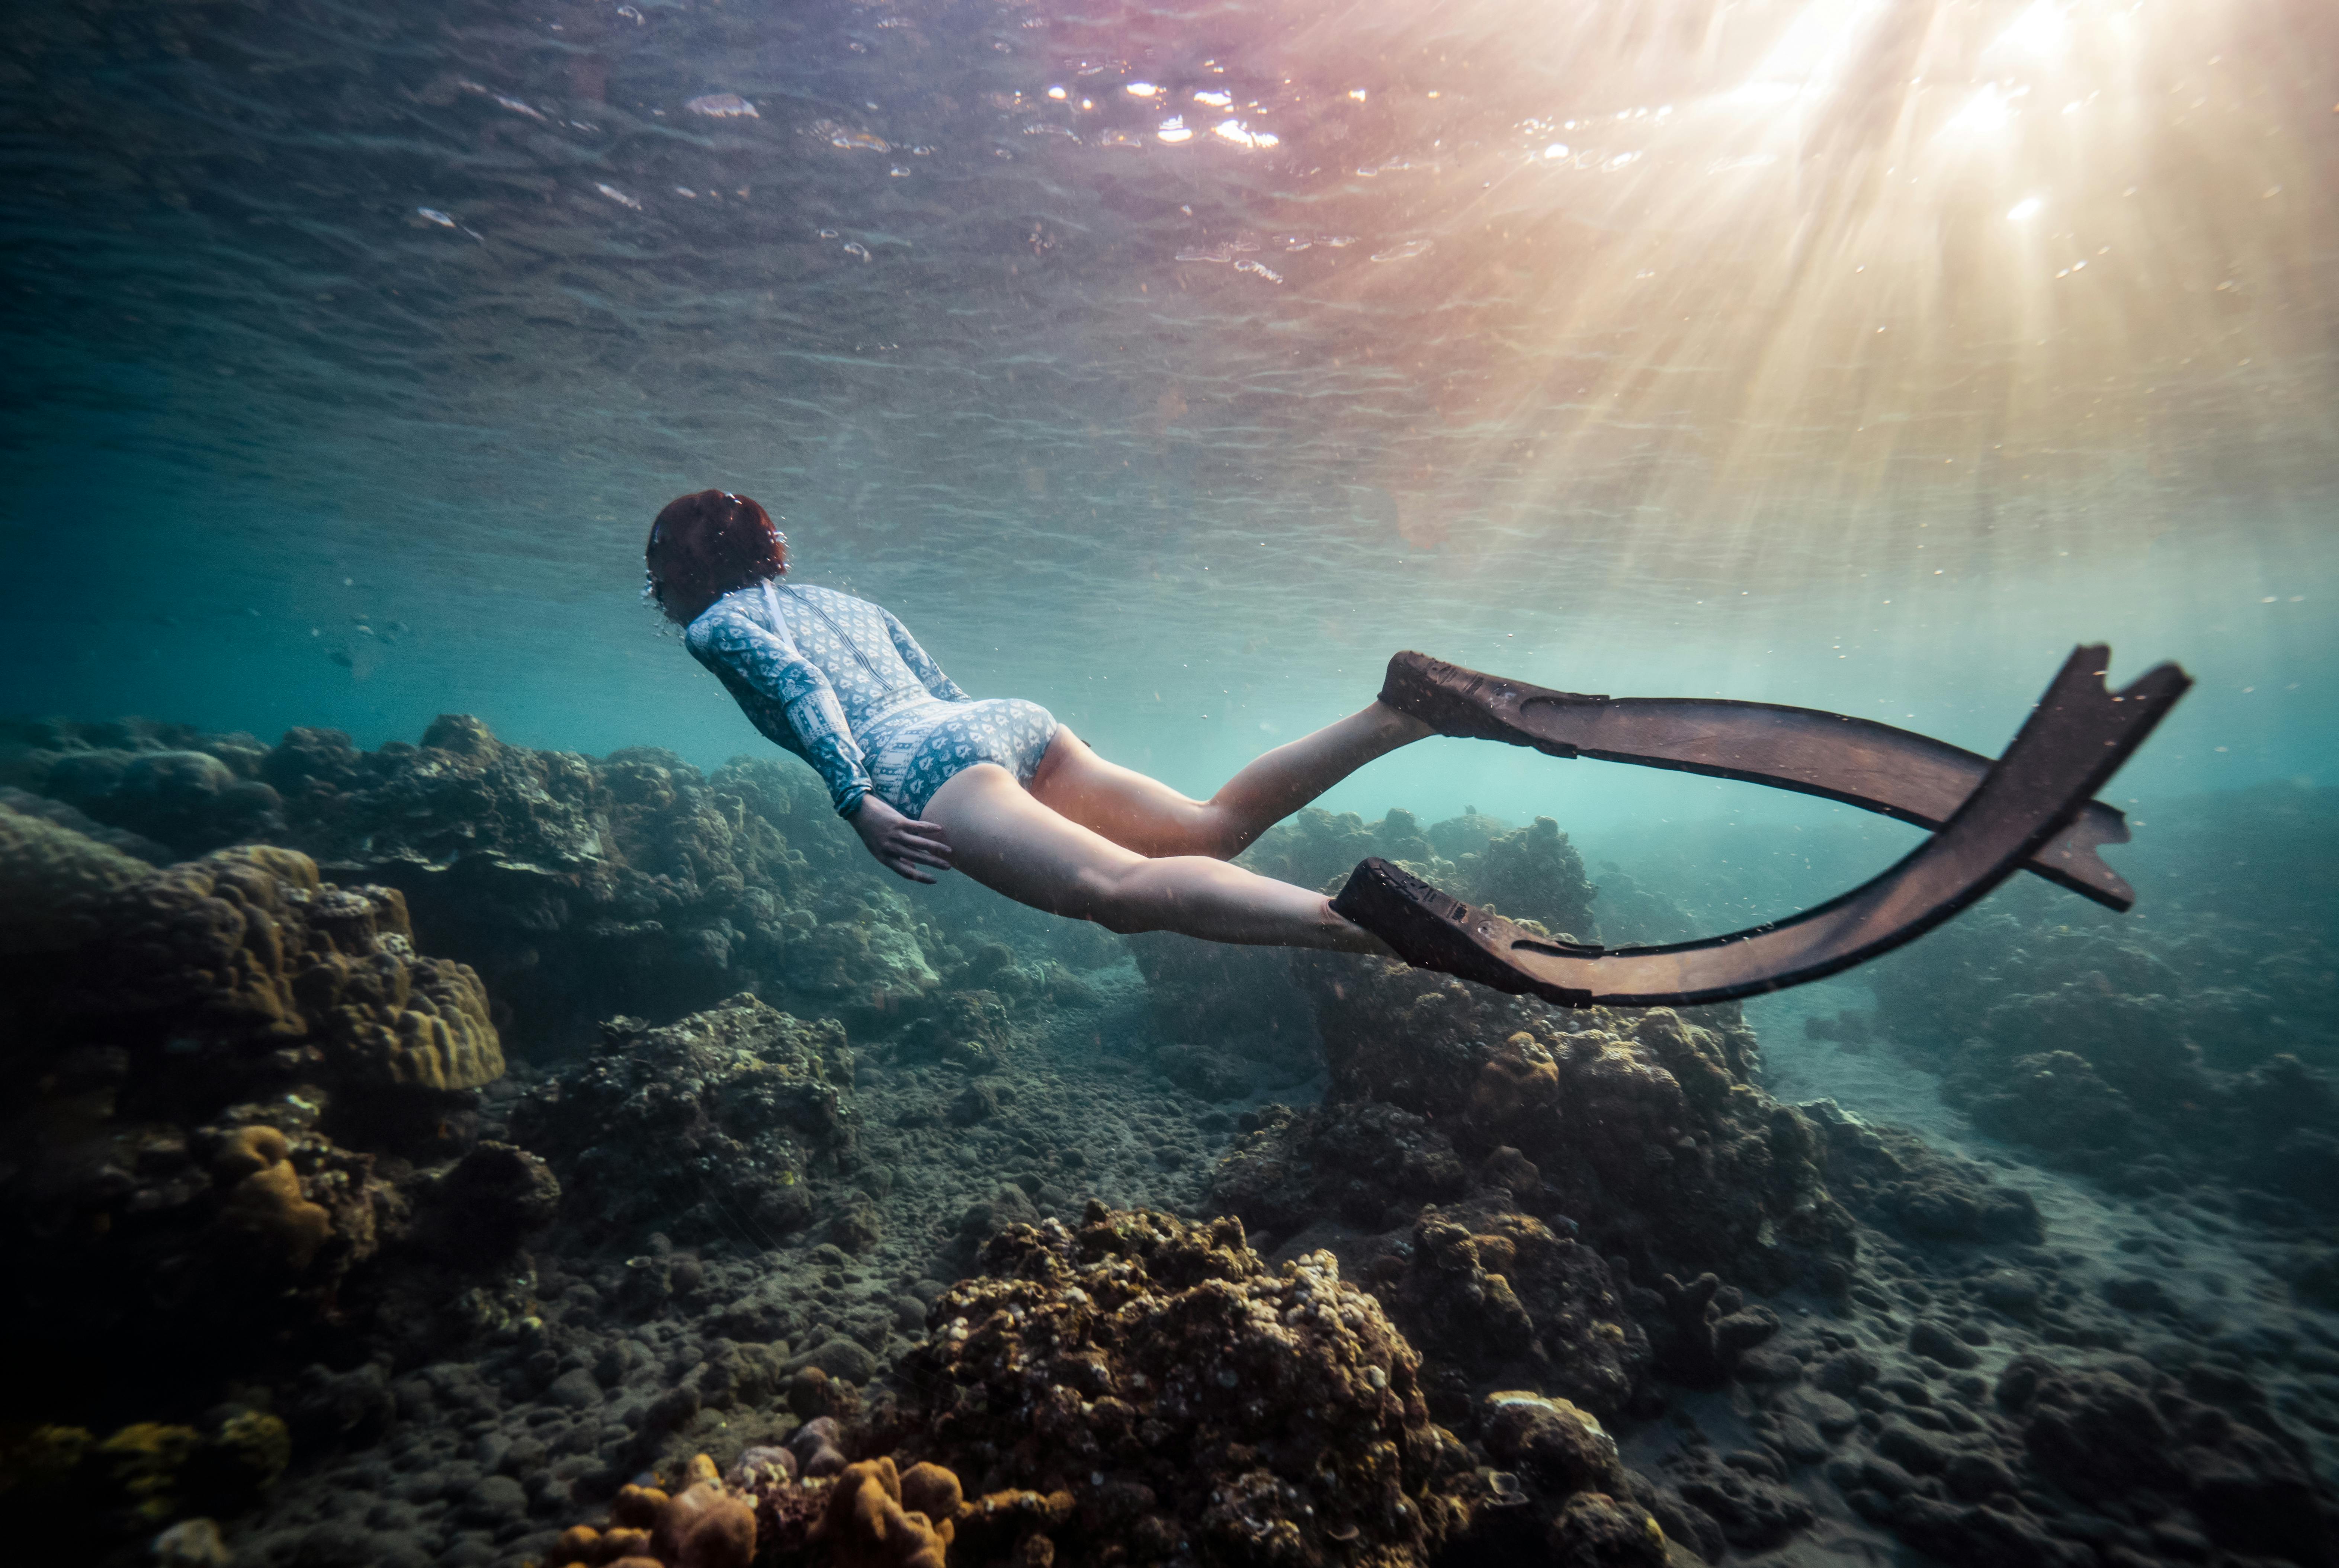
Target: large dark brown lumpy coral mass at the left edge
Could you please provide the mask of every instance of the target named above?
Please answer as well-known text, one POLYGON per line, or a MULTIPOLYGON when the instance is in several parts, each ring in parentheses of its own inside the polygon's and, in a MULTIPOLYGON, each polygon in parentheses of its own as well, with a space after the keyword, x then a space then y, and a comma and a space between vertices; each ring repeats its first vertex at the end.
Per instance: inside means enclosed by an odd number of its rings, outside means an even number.
POLYGON ((0 1238, 37 1259, 9 1271, 7 1311, 42 1355, 5 1414, 129 1423, 44 1460, 115 1521, 103 1538, 246 1507, 288 1421, 222 1395, 428 1334, 463 1290, 524 1273, 557 1187, 529 1154, 470 1147, 496 1030, 475 974, 414 950, 395 892, 271 847, 122 880, 82 845, 115 875, 61 906, 70 945, 12 995, 0 1238))

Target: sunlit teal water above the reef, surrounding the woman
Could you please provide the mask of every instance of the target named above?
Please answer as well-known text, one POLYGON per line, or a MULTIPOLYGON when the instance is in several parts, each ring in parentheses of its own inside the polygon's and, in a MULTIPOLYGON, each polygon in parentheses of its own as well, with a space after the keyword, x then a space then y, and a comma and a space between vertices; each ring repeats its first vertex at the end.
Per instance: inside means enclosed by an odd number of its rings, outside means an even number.
MULTIPOLYGON (((650 513, 1212 789, 1417 646, 2330 782, 2327 7, 33 0, 0 709, 760 742, 650 513)), ((1438 742, 1329 800, 1824 807, 1438 742)))

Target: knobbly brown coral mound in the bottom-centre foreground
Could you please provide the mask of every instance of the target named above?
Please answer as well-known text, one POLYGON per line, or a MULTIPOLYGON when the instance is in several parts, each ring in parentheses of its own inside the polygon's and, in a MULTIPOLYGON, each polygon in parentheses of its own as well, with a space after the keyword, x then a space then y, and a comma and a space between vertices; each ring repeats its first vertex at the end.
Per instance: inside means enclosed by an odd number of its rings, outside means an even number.
POLYGON ((1233 1219, 1092 1203, 1013 1226, 912 1353, 924 1444, 985 1491, 1067 1493, 1069 1561, 1422 1561, 1462 1517, 1417 1357, 1331 1254, 1270 1271, 1233 1219))

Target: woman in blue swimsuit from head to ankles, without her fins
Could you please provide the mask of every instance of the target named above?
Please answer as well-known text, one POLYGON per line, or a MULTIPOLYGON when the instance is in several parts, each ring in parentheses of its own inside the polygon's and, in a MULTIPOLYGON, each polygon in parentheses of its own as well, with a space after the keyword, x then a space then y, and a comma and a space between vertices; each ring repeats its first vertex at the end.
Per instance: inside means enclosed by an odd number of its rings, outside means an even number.
POLYGON ((650 527, 646 594, 770 740, 812 763, 889 871, 957 868, 1109 931, 1389 953, 1331 899, 1226 864, 1431 725, 1373 702, 1256 758, 1209 800, 1109 763, 1036 702, 968 697, 889 611, 786 583, 788 536, 702 489, 650 527))

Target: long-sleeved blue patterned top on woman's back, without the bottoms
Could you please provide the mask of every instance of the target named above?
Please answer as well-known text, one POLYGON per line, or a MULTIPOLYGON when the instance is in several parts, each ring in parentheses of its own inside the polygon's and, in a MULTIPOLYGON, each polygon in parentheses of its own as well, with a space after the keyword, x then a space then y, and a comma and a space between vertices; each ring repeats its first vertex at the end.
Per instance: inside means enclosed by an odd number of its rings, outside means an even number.
POLYGON ((767 737, 812 763, 840 817, 870 793, 861 737, 917 702, 973 702, 884 606, 833 587, 758 583, 683 634, 767 737))

